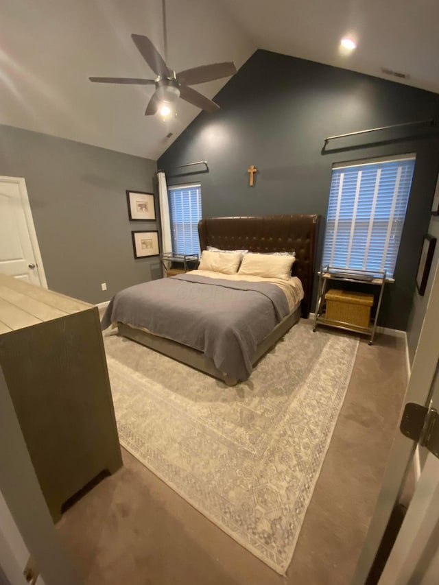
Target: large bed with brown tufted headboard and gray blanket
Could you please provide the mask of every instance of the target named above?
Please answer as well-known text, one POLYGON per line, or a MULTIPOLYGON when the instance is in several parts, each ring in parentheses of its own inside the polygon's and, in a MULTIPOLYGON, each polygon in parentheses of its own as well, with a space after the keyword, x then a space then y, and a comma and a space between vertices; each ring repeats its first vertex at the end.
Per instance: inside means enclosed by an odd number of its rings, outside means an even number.
POLYGON ((292 278, 265 282, 195 270, 154 280, 119 292, 102 327, 117 326, 119 335, 235 385, 300 315, 309 315, 318 223, 318 215, 202 219, 201 250, 294 250, 292 278))

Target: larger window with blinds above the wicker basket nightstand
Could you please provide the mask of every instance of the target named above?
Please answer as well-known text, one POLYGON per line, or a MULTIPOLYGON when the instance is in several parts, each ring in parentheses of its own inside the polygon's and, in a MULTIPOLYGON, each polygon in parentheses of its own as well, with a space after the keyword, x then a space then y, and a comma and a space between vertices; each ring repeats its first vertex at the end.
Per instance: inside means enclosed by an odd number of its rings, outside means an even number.
POLYGON ((393 278, 415 158, 333 166, 323 264, 393 278))

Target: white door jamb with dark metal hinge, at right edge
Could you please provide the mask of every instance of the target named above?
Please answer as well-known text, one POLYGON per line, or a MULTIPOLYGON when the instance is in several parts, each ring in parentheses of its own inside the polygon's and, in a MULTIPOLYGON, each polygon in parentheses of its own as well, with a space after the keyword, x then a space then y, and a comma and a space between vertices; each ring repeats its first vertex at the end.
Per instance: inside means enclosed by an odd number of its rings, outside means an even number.
MULTIPOLYGON (((429 392, 436 374, 439 359, 439 265, 436 267, 434 282, 425 311, 425 318, 418 347, 414 356, 412 372, 403 400, 428 406, 429 392)), ((401 410, 402 414, 402 410, 401 410)), ((401 417, 400 417, 401 420, 401 417)), ((351 585, 364 585, 372 563, 375 560, 390 514, 399 499, 407 470, 414 461, 416 443, 406 438, 399 429, 390 451, 381 491, 377 500, 368 534, 359 556, 351 585)))

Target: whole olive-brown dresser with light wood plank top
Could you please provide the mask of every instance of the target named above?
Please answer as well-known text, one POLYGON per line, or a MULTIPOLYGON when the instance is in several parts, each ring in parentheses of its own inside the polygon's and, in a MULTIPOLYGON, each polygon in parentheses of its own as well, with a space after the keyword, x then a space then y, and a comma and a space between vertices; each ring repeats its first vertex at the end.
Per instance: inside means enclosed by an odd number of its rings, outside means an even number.
POLYGON ((97 307, 0 274, 0 365, 57 521, 122 466, 97 307))

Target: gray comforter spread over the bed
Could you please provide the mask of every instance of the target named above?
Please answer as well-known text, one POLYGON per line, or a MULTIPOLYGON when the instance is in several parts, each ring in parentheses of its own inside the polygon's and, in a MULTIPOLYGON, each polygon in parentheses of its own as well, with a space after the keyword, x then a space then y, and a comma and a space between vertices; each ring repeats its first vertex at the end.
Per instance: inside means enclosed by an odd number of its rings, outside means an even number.
POLYGON ((220 372, 245 380, 258 344, 288 313, 276 285, 181 274, 117 293, 102 329, 117 322, 146 328, 202 351, 220 372))

